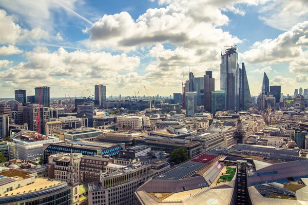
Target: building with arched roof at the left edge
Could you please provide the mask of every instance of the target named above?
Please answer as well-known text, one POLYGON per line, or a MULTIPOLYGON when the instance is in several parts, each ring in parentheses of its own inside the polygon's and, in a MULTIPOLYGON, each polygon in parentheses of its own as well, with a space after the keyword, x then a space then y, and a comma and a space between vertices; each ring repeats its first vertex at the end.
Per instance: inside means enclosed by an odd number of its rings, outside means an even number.
POLYGON ((7 114, 10 124, 23 125, 24 107, 16 100, 0 101, 0 114, 7 114))

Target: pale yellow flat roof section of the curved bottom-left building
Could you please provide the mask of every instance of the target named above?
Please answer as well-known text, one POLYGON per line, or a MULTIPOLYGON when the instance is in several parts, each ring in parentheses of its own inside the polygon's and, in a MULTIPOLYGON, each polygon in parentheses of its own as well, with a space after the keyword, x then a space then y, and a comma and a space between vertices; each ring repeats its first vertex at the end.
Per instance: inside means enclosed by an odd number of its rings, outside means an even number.
POLYGON ((26 193, 30 193, 30 192, 32 193, 32 192, 36 192, 36 191, 42 191, 44 189, 48 189, 48 188, 51 188, 51 187, 55 187, 57 185, 61 185, 62 183, 64 183, 64 182, 54 180, 54 179, 37 177, 35 179, 34 183, 30 183, 30 185, 26 185, 24 187, 14 189, 12 191, 1 194, 0 197, 13 196, 13 195, 18 195, 18 194, 26 194, 26 193))

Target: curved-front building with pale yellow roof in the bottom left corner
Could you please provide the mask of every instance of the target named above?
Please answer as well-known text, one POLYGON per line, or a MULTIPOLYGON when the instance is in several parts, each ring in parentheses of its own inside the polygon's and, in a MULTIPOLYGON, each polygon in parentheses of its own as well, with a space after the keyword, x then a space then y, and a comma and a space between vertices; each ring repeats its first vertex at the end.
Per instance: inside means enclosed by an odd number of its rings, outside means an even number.
POLYGON ((34 172, 16 169, 6 170, 0 175, 1 204, 72 204, 71 188, 67 182, 36 177, 34 172))

